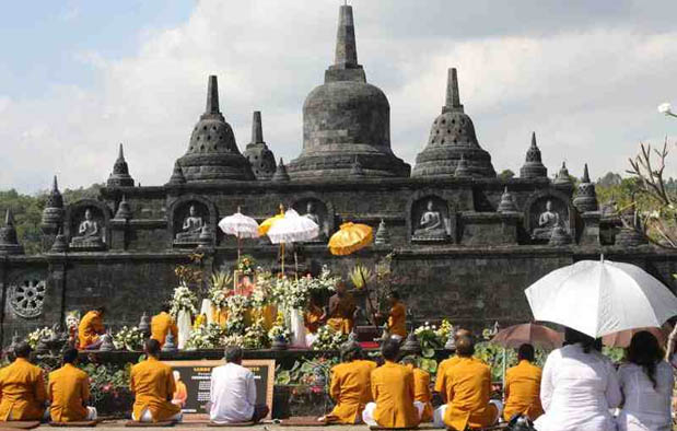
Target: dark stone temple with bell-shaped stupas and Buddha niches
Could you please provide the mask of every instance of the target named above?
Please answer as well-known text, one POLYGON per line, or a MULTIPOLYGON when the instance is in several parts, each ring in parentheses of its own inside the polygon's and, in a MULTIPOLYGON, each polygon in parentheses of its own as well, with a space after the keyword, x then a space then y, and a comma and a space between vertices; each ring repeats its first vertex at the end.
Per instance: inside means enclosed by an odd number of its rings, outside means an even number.
MULTIPOLYGON (((175 266, 196 248, 205 270, 232 267, 235 240, 217 223, 238 207, 259 221, 281 203, 317 220, 317 240, 297 248, 304 268, 327 264, 346 275, 358 260, 388 261, 417 319, 523 322, 530 318, 523 293, 529 283, 600 254, 676 288, 677 255, 649 246, 620 228, 615 211, 600 209, 587 166, 576 189, 565 165, 550 178, 534 135, 530 143, 525 137, 520 177, 499 179, 462 104, 456 69, 446 83, 440 77, 444 106, 411 168, 390 148, 388 100, 367 83, 357 53, 352 8, 342 5, 335 63, 304 103, 303 148, 288 165, 276 163, 259 112, 241 152, 220 109, 217 77, 209 77, 205 113, 166 184, 135 186, 121 145, 97 199, 65 202, 55 178, 43 253, 34 256, 23 254, 8 212, 0 226, 2 341, 101 304, 110 324, 137 324, 170 296, 175 266), (327 238, 345 221, 374 226, 375 245, 331 256, 327 238)), ((266 240, 244 246, 262 265, 278 261, 266 240)))

